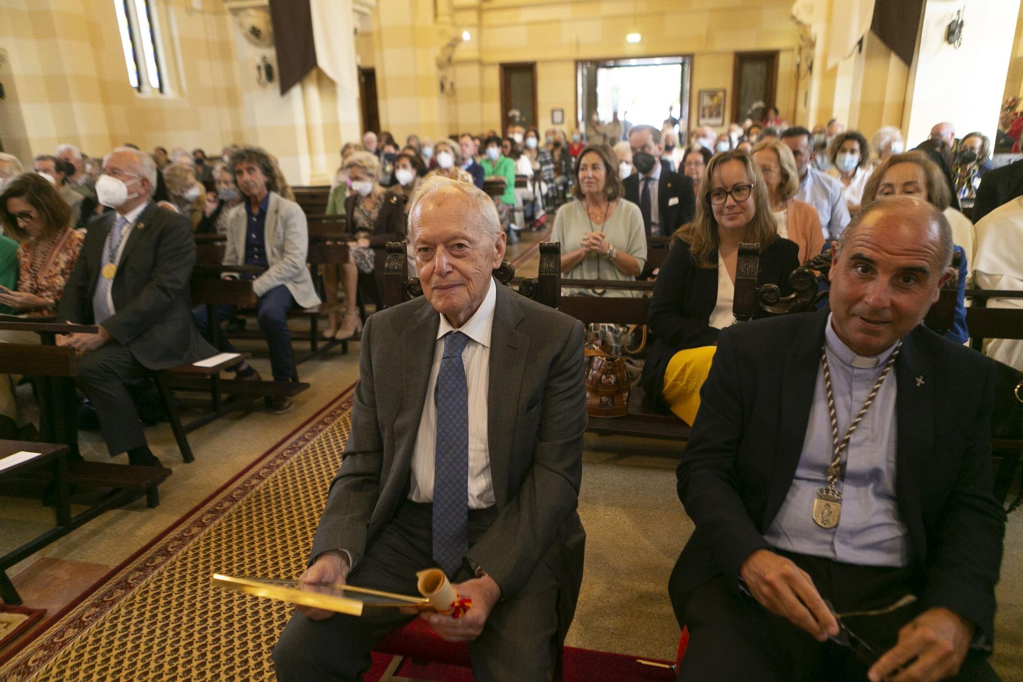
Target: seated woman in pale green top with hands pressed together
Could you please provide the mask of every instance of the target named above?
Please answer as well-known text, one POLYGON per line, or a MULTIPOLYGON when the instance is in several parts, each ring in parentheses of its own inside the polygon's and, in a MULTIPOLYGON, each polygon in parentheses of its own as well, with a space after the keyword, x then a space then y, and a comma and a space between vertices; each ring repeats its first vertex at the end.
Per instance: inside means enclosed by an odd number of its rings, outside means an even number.
MULTIPOLYGON (((550 242, 562 244, 565 280, 632 281, 647 262, 647 238, 639 208, 622 198, 608 147, 587 146, 576 160, 576 201, 558 209, 550 242)), ((567 295, 640 296, 621 289, 565 290, 567 295)))

